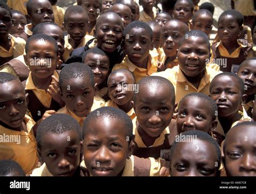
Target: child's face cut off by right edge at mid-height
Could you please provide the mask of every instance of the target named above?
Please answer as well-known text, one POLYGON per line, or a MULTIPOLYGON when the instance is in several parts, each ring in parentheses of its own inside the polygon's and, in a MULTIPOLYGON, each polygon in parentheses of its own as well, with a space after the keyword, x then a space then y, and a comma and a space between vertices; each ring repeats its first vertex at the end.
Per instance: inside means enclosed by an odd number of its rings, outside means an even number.
POLYGON ((238 77, 245 83, 245 93, 252 95, 256 93, 256 65, 255 60, 248 60, 244 64, 239 72, 238 77))

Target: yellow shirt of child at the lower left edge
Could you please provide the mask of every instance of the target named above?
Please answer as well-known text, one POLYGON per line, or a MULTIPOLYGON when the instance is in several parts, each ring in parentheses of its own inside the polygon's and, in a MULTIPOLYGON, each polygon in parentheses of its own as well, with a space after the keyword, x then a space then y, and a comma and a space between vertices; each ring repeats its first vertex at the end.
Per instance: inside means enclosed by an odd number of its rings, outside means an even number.
POLYGON ((28 132, 16 131, 0 126, 0 160, 14 160, 26 174, 37 167, 36 138, 32 127, 35 122, 25 115, 28 132))

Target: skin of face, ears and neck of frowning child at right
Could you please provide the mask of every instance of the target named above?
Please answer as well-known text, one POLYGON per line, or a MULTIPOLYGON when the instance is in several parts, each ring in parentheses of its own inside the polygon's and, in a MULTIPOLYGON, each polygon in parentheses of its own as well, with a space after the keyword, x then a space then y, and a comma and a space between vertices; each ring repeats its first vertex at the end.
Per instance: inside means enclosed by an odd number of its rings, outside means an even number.
POLYGON ((241 119, 242 115, 238 111, 247 95, 241 93, 238 80, 227 75, 212 81, 210 95, 217 103, 218 119, 226 134, 232 123, 241 119))

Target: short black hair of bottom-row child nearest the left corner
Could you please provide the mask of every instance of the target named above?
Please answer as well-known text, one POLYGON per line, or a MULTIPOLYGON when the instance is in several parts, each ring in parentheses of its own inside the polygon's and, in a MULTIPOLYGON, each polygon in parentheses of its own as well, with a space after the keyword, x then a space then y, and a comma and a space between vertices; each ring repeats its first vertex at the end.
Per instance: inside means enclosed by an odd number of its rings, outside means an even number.
POLYGON ((41 149, 45 134, 63 134, 71 130, 77 131, 79 140, 83 141, 79 123, 72 116, 67 114, 53 114, 43 120, 38 126, 36 133, 37 147, 41 149))

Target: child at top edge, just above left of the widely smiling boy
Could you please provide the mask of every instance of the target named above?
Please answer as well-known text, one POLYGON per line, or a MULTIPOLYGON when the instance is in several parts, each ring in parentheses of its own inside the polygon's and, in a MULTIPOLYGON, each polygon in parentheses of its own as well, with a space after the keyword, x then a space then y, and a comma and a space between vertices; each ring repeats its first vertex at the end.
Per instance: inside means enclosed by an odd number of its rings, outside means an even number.
POLYGON ((89 20, 86 34, 93 36, 96 20, 102 9, 102 0, 83 0, 82 7, 87 11, 89 20))

